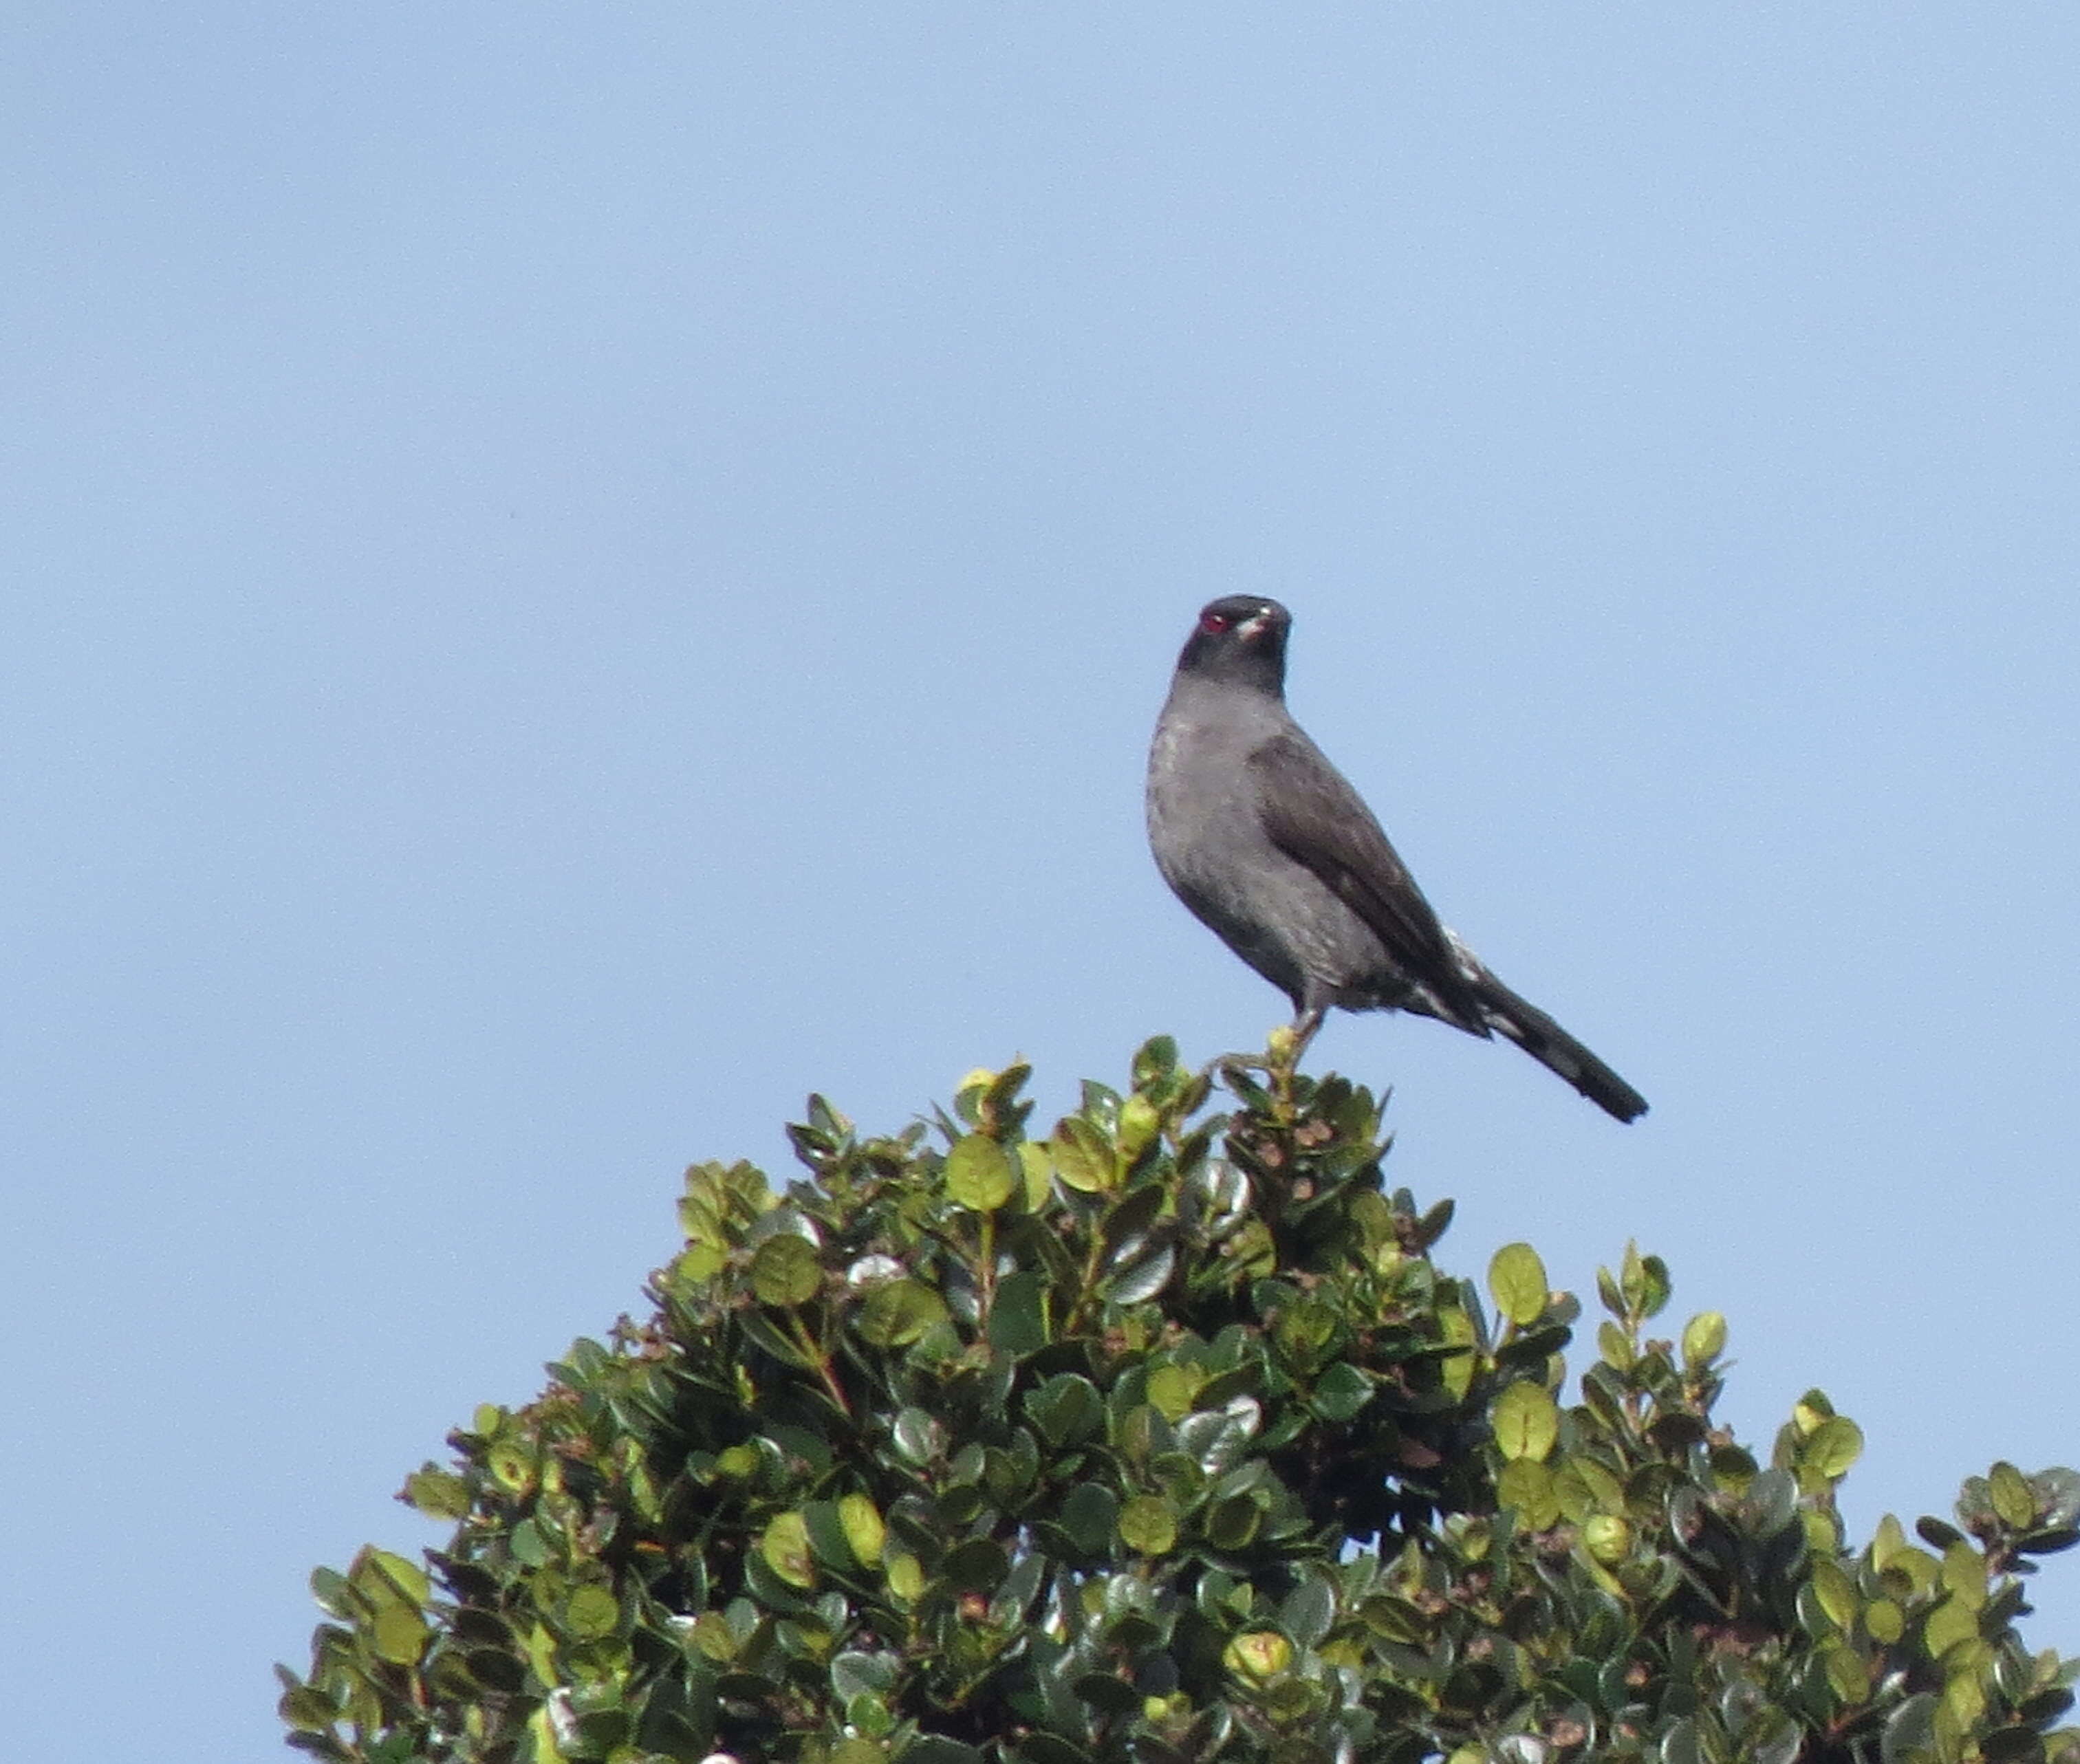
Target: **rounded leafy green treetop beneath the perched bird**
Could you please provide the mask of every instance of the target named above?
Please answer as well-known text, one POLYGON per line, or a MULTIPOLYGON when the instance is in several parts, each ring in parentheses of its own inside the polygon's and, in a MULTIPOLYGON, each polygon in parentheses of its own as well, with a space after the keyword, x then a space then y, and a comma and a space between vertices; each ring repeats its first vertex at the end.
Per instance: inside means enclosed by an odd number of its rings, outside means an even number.
POLYGON ((697 1165, 653 1313, 483 1408, 406 1498, 418 1566, 314 1577, 291 1743, 329 1760, 2080 1764, 2080 1662, 2013 1620, 2080 1477, 1851 1546, 1818 1392, 1768 1460, 1712 1421, 1726 1325, 1597 1358, 1525 1244, 1431 1261, 1379 1105, 1154 1040, 1028 1134, 1023 1067, 809 1179, 697 1165))

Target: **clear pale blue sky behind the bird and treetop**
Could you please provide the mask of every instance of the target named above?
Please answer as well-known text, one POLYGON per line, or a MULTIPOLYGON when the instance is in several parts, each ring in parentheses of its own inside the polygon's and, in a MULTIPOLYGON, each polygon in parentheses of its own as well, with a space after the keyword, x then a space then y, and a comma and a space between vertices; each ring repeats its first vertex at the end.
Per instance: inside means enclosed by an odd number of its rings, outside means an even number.
POLYGON ((1335 1019, 1444 1259, 1660 1252, 1860 1529, 2080 1460, 2072 8, 0 33, 21 1756, 275 1756, 310 1566, 805 1092, 1260 1044, 1140 830, 1219 593, 1654 1102, 1335 1019))

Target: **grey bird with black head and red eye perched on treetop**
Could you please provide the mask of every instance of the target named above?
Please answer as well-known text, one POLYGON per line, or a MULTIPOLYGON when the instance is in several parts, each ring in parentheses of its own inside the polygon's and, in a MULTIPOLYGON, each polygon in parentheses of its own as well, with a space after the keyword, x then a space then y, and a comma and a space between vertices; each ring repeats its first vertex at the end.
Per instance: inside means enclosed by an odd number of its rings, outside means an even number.
POLYGON ((1450 932, 1408 865, 1285 709, 1292 614, 1208 601, 1177 655, 1148 749, 1148 847, 1163 880, 1294 1005, 1294 1053, 1331 1009, 1414 1011, 1504 1036, 1618 1121, 1647 1098, 1504 986, 1450 932))

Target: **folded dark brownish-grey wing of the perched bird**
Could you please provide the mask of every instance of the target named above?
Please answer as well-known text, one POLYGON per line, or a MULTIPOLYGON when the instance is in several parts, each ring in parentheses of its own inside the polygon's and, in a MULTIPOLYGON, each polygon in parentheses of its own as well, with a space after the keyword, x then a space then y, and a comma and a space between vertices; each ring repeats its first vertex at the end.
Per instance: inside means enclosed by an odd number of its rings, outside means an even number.
POLYGON ((1437 913, 1344 774, 1300 734, 1267 741, 1248 770, 1271 842, 1364 919, 1394 967, 1427 986, 1458 1028, 1485 1036, 1481 996, 1460 971, 1437 913))

